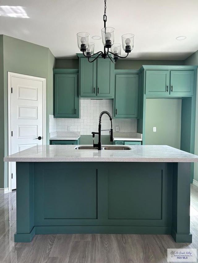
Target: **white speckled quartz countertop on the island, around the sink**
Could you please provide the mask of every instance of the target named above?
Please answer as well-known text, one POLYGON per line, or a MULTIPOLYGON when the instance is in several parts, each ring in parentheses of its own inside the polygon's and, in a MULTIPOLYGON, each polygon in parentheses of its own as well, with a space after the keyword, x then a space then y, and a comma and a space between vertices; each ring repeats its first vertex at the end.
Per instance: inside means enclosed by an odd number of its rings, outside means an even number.
POLYGON ((76 150, 76 145, 38 145, 5 162, 198 162, 198 156, 166 145, 130 145, 131 150, 76 150))

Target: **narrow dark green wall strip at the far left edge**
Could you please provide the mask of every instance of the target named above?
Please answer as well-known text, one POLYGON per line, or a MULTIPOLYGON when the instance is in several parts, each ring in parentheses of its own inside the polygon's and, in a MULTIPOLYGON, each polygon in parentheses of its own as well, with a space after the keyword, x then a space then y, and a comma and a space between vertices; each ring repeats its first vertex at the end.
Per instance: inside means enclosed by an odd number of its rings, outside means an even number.
POLYGON ((3 36, 0 35, 0 188, 4 188, 4 88, 3 88, 3 36))

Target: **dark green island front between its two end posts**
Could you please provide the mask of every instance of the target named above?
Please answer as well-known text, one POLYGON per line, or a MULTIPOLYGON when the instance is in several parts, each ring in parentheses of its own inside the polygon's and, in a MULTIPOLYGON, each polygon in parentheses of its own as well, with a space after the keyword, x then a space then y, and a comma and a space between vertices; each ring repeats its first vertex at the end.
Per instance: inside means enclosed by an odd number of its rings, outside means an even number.
POLYGON ((34 172, 37 233, 170 234, 172 163, 41 162, 34 172))

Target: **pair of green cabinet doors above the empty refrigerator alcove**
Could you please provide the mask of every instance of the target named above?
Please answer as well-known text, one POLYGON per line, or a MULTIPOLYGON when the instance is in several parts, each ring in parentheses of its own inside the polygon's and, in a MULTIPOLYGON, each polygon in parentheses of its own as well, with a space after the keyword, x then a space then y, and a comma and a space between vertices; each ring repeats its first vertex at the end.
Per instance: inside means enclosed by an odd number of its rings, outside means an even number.
POLYGON ((185 97, 193 95, 194 71, 146 70, 146 95, 185 97))

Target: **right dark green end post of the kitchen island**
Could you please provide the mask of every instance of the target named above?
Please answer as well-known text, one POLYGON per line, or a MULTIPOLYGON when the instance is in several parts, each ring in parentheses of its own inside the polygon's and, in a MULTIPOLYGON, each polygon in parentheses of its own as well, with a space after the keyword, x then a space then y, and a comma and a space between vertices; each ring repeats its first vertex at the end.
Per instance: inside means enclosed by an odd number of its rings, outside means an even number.
POLYGON ((191 163, 173 164, 173 199, 171 235, 176 242, 192 242, 190 233, 191 163))

